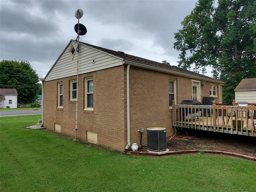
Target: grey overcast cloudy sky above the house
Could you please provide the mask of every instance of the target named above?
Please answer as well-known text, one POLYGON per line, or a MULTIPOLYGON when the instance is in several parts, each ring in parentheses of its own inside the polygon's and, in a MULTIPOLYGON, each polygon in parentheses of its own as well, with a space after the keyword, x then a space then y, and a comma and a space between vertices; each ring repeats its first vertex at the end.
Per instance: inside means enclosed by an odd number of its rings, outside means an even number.
POLYGON ((28 61, 44 77, 68 42, 76 39, 75 12, 82 9, 79 22, 87 34, 80 41, 177 66, 174 32, 196 2, 0 0, 0 58, 28 61))

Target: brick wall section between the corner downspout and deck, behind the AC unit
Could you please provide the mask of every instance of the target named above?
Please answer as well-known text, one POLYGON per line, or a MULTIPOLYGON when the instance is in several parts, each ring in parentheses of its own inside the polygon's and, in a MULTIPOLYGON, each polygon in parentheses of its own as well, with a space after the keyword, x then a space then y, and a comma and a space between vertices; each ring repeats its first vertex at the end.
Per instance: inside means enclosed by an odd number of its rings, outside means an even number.
POLYGON ((144 128, 142 140, 145 143, 146 129, 150 127, 164 127, 167 136, 174 134, 172 113, 169 110, 171 77, 173 78, 168 74, 151 70, 130 68, 131 144, 136 142, 140 146, 140 128, 144 128))

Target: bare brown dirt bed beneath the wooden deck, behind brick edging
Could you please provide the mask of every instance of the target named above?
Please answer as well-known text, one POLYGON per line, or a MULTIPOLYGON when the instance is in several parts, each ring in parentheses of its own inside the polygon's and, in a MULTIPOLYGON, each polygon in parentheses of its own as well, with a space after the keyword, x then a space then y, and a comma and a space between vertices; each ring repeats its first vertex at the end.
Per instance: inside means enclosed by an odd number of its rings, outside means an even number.
MULTIPOLYGON (((176 135, 171 140, 167 139, 167 148, 170 151, 219 150, 256 157, 256 138, 189 130, 188 135, 176 135)), ((147 148, 139 150, 146 151, 147 148)))

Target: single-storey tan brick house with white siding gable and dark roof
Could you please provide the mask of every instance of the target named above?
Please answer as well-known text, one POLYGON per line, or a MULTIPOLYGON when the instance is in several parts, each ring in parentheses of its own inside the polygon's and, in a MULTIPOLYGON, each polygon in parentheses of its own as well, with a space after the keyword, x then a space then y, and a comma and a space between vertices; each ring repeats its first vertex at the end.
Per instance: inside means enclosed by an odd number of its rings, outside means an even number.
POLYGON ((149 127, 174 134, 172 100, 202 102, 203 96, 213 96, 222 101, 222 81, 167 62, 79 44, 78 49, 78 42, 70 40, 42 79, 47 129, 123 151, 134 142, 140 145, 140 128, 145 129, 143 141, 149 127))

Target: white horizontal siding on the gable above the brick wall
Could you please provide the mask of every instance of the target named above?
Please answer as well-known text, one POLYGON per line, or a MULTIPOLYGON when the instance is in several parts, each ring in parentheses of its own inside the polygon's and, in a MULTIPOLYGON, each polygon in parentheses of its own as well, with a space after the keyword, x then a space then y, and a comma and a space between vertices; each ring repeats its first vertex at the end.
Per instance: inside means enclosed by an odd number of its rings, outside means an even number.
MULTIPOLYGON (((77 47, 76 42, 71 42, 66 49, 62 52, 54 66, 47 74, 45 81, 55 80, 59 78, 65 78, 75 76, 77 74, 77 52, 74 54, 74 58, 70 58, 69 50, 73 44, 74 48, 77 47)), ((106 54, 100 50, 90 48, 81 44, 79 52, 79 74, 111 68, 114 66, 120 66, 123 64, 123 60, 115 56, 106 54)))

